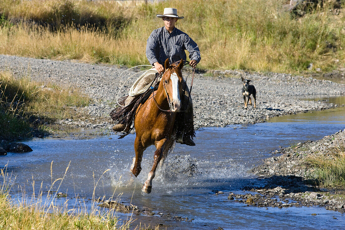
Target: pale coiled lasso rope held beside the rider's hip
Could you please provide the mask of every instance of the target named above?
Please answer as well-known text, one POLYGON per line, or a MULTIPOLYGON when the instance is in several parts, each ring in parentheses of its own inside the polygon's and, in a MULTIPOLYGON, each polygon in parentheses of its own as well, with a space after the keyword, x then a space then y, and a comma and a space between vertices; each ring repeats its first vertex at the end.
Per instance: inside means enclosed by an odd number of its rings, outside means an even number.
MULTIPOLYGON (((139 66, 150 66, 150 65, 139 65, 139 66)), ((135 67, 139 67, 139 66, 133 66, 133 67, 131 67, 131 68, 129 68, 129 69, 132 69, 132 68, 135 68, 135 67)), ((150 67, 152 67, 152 66, 150 66, 150 67)), ((126 69, 125 71, 123 71, 123 72, 119 75, 119 77, 121 77, 121 75, 122 75, 123 73, 125 73, 125 72, 126 72, 127 70, 129 70, 129 69, 126 69)), ((116 95, 116 103, 117 103, 119 106, 121 106, 121 107, 126 107, 126 105, 120 105, 120 103, 119 103, 119 101, 118 101, 119 93, 120 93, 122 87, 125 85, 125 83, 126 83, 131 77, 133 77, 134 75, 137 75, 137 74, 139 74, 139 73, 142 73, 142 72, 145 72, 145 73, 141 74, 140 77, 138 77, 138 79, 137 79, 137 80, 135 81, 135 83, 132 85, 132 87, 130 87, 129 93, 128 93, 129 96, 132 96, 132 97, 133 97, 133 96, 137 96, 137 95, 139 95, 139 94, 145 93, 146 90, 148 90, 148 89, 150 88, 150 86, 151 86, 151 84, 153 83, 153 81, 152 81, 150 84, 148 84, 147 86, 145 86, 144 88, 142 88, 142 89, 140 89, 140 90, 137 90, 136 92, 134 92, 134 89, 135 89, 135 87, 138 85, 138 83, 140 82, 140 80, 141 80, 142 78, 144 78, 146 75, 152 74, 152 73, 155 73, 155 74, 158 73, 158 71, 156 70, 156 68, 153 67, 153 68, 148 69, 148 70, 139 71, 138 73, 135 73, 135 74, 131 75, 129 78, 127 78, 127 80, 124 82, 124 84, 122 84, 122 86, 121 86, 120 89, 119 89, 119 92, 118 92, 117 95, 116 95)), ((160 79, 158 79, 158 80, 160 80, 160 79)))

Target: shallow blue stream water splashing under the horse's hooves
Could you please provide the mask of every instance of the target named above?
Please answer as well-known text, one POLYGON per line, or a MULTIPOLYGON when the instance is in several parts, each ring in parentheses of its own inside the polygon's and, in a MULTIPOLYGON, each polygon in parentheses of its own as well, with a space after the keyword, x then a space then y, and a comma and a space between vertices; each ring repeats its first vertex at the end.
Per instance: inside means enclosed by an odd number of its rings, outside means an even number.
MULTIPOLYGON (((142 171, 130 184, 129 167, 134 156, 135 135, 124 139, 117 139, 117 135, 109 136, 112 139, 35 139, 25 142, 33 152, 8 153, 0 157, 0 165, 8 163, 7 170, 17 176, 13 194, 20 185, 30 194, 32 180, 36 191, 42 181, 43 191, 49 189, 51 161, 52 180, 62 177, 71 161, 59 191, 67 191, 67 198, 80 194, 86 198, 86 205, 93 193, 93 173, 97 182, 102 173, 110 169, 102 176, 96 197, 109 198, 115 191, 115 197, 123 193, 121 201, 128 205, 133 195, 132 204, 156 213, 133 214, 133 218, 140 218, 146 224, 162 223, 168 229, 344 229, 345 215, 324 208, 266 210, 227 199, 228 192, 240 193, 243 186, 259 183, 246 173, 247 170, 260 164, 279 146, 318 140, 344 128, 344 107, 275 117, 267 123, 254 125, 203 128, 197 131, 196 146, 176 144, 165 168, 156 173, 152 193, 146 195, 140 190, 151 168, 154 149, 144 152, 142 171), (215 190, 225 194, 214 195, 215 190), (162 217, 158 213, 163 213, 162 217), (193 220, 180 222, 175 216, 193 220)), ((119 217, 126 218, 127 214, 119 213, 119 217)))

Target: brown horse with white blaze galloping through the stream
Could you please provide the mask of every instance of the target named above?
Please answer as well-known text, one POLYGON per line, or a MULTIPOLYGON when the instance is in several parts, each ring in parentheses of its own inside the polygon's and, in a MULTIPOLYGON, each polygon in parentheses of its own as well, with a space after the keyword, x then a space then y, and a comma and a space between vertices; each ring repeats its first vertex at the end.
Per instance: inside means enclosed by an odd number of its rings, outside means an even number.
POLYGON ((169 149, 175 142, 172 134, 177 112, 181 108, 183 60, 178 65, 170 65, 169 59, 167 59, 164 66, 165 73, 160 80, 157 91, 154 91, 149 99, 137 108, 134 119, 136 130, 135 157, 131 172, 136 177, 141 171, 142 153, 148 146, 156 146, 152 169, 141 189, 146 193, 151 192, 152 179, 155 177, 158 163, 167 156, 169 149))

